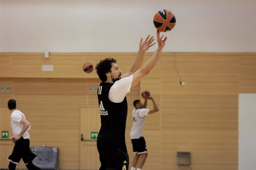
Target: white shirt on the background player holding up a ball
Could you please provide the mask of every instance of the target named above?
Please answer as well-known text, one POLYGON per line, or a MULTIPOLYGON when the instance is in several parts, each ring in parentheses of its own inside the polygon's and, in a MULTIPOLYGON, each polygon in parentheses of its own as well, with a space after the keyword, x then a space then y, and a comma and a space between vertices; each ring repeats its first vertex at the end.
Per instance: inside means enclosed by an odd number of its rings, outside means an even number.
POLYGON ((130 132, 131 139, 139 139, 143 136, 142 130, 145 116, 148 115, 150 109, 133 109, 132 110, 132 129, 130 132))

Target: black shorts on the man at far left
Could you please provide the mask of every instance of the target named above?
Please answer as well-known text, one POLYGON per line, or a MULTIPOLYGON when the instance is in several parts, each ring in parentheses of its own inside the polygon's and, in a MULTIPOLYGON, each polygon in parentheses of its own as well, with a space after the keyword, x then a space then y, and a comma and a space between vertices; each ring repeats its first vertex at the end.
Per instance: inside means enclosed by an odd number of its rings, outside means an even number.
POLYGON ((36 155, 30 151, 29 139, 23 139, 21 137, 15 142, 13 152, 9 156, 8 160, 12 163, 18 164, 20 159, 23 159, 25 164, 28 164, 36 158, 36 155))

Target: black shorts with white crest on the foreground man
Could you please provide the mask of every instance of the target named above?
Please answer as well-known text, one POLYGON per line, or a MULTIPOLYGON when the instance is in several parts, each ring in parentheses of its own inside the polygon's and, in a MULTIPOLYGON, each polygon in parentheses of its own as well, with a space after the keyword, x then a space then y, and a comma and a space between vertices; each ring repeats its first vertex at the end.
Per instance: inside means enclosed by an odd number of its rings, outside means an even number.
POLYGON ((99 154, 101 167, 99 170, 128 170, 129 156, 127 152, 117 149, 115 153, 108 155, 99 154))

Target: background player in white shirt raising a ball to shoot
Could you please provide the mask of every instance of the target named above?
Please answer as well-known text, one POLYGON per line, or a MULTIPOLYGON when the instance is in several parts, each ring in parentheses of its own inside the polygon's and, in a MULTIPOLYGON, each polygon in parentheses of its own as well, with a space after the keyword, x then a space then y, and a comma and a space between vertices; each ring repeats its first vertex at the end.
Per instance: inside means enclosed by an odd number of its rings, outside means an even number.
POLYGON ((137 170, 141 170, 144 165, 148 151, 146 149, 146 142, 142 134, 143 125, 145 121, 145 116, 151 113, 155 113, 158 111, 157 103, 155 100, 148 96, 144 104, 142 105, 140 100, 135 100, 133 102, 135 109, 132 110, 132 129, 130 132, 130 137, 132 140, 133 152, 135 153, 135 157, 132 161, 131 170, 135 170, 137 166, 137 170), (154 108, 147 109, 147 100, 150 99, 153 102, 154 108))

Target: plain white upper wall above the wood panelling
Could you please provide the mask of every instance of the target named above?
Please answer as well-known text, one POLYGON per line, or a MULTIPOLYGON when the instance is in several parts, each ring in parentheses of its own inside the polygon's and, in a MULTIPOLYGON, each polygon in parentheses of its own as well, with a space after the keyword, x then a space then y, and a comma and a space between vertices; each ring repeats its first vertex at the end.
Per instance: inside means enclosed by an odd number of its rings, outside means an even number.
MULTIPOLYGON (((0 0, 0 52, 137 52, 155 13, 176 25, 163 52, 256 52, 255 0, 0 0)), ((148 52, 154 52, 157 44, 148 52)))

